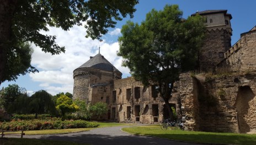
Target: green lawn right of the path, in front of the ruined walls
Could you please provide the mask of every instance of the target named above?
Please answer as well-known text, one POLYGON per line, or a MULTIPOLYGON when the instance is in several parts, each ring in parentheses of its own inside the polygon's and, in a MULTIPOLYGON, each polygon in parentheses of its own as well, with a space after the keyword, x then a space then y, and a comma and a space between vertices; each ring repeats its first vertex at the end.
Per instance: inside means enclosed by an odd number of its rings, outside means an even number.
POLYGON ((223 144, 256 144, 256 135, 239 133, 213 133, 182 130, 161 130, 158 125, 122 128, 123 131, 135 135, 146 135, 168 138, 177 141, 196 143, 223 143, 223 144))

